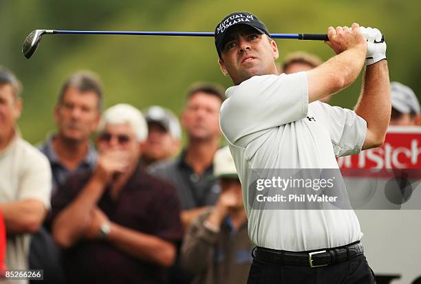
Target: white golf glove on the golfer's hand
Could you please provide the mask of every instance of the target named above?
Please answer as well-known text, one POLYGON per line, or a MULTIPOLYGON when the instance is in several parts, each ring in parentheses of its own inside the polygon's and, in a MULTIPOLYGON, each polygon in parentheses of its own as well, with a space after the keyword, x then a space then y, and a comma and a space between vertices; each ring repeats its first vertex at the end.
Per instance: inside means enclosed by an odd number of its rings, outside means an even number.
POLYGON ((382 41, 382 33, 376 28, 360 27, 360 32, 367 41, 367 56, 365 66, 374 64, 386 58, 386 43, 382 41))

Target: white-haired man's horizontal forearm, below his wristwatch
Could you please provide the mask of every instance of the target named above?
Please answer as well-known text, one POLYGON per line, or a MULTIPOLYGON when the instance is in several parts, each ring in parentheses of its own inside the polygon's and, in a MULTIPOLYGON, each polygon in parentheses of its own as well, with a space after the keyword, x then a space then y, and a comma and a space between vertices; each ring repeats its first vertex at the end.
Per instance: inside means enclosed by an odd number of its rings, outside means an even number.
POLYGON ((151 234, 144 234, 111 223, 108 237, 117 248, 144 261, 169 267, 175 260, 175 245, 151 234))

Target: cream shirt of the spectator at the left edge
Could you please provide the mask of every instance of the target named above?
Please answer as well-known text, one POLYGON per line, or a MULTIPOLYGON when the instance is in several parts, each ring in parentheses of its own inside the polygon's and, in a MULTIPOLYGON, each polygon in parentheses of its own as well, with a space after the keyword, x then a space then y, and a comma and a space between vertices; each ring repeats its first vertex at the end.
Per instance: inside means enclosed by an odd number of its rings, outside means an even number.
MULTIPOLYGON (((0 202, 36 199, 50 208, 52 175, 47 158, 34 146, 15 135, 0 152, 0 202)), ((7 230, 7 228, 6 228, 7 230)), ((27 270, 30 234, 8 237, 6 267, 10 270, 27 270)), ((28 281, 6 281, 28 283, 28 281)))

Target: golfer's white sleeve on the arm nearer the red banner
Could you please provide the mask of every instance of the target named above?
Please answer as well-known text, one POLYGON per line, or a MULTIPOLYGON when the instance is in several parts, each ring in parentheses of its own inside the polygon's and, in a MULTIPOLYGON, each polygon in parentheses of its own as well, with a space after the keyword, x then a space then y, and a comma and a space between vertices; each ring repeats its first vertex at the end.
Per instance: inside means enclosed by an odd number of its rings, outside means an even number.
POLYGON ((325 114, 325 123, 336 157, 360 153, 367 133, 367 122, 355 111, 314 102, 325 114))

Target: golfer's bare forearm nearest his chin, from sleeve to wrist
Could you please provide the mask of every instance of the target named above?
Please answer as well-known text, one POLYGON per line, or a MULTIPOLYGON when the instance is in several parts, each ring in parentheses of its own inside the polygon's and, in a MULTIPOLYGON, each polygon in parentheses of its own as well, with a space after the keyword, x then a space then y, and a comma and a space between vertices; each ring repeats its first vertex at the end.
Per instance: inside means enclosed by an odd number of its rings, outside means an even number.
POLYGON ((365 63, 365 50, 345 50, 307 72, 309 102, 336 94, 358 78, 365 63))

